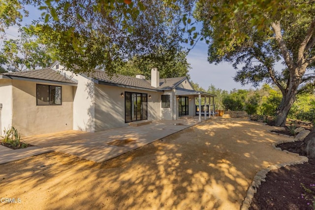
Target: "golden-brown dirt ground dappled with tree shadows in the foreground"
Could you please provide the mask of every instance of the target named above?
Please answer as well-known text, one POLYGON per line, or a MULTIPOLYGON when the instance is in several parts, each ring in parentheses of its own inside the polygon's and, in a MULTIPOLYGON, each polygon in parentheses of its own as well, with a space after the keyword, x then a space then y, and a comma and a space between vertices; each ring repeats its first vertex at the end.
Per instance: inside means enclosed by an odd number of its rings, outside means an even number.
POLYGON ((2 164, 0 209, 239 210, 258 171, 300 160, 272 148, 287 137, 271 129, 216 118, 100 164, 58 152, 2 164))

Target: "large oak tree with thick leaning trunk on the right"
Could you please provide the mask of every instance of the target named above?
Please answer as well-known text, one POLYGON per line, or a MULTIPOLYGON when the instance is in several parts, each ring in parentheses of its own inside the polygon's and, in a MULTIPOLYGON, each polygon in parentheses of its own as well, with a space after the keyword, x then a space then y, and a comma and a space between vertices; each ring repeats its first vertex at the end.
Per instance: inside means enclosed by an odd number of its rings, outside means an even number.
POLYGON ((209 62, 233 62, 243 85, 274 83, 282 93, 277 126, 284 126, 296 95, 314 87, 315 3, 309 0, 199 0, 195 17, 209 39, 209 62), (283 61, 284 69, 275 68, 283 61), (303 88, 302 88, 303 89, 303 88))

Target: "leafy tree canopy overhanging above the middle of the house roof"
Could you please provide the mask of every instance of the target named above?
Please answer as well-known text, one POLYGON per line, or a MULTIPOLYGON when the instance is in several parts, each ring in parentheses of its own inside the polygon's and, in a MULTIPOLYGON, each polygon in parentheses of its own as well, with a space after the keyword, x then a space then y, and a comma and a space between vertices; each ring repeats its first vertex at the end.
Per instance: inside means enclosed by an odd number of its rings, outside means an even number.
POLYGON ((153 52, 160 48, 180 53, 180 14, 188 7, 169 0, 45 0, 41 29, 69 70, 113 74, 134 57, 159 56, 153 52))

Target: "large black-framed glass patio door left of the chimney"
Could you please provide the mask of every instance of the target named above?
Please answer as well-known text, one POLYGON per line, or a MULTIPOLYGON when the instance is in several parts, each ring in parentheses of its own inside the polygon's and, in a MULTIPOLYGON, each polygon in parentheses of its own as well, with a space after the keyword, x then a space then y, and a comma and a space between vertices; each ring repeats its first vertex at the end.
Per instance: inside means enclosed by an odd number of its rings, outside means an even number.
POLYGON ((148 119, 147 94, 125 92, 125 122, 148 119))

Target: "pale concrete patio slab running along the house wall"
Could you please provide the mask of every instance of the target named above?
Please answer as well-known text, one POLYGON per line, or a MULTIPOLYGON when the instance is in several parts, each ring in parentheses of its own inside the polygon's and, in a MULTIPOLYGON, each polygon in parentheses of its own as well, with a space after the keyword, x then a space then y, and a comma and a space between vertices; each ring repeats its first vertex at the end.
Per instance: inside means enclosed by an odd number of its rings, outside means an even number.
POLYGON ((142 126, 113 128, 96 133, 64 131, 25 137, 29 144, 75 155, 94 162, 104 162, 128 151, 199 123, 198 118, 160 120, 142 126), (116 144, 113 144, 115 141, 116 144), (124 144, 117 144, 125 142, 124 144))

